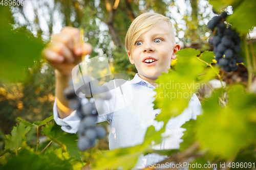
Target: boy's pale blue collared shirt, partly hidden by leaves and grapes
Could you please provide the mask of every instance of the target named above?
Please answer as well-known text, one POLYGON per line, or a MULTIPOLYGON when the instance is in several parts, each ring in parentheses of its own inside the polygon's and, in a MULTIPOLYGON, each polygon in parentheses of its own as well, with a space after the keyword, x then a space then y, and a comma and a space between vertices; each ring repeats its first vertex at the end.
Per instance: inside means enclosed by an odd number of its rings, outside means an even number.
MULTIPOLYGON (((103 86, 116 87, 115 81, 104 83, 103 86)), ((134 79, 127 81, 121 85, 121 88, 111 88, 112 98, 105 101, 103 108, 104 113, 98 115, 97 123, 108 121, 111 129, 109 134, 110 150, 120 147, 131 147, 140 144, 144 140, 147 127, 153 125, 156 131, 163 127, 163 122, 157 122, 155 117, 161 112, 160 109, 153 109, 153 101, 156 91, 155 87, 147 81, 141 79, 138 74, 134 79)), ((83 98, 82 102, 87 103, 87 98, 83 98)), ((97 106, 97 101, 95 101, 97 106)), ((166 124, 166 130, 163 135, 170 137, 165 138, 162 143, 154 145, 155 150, 179 149, 180 143, 183 141, 184 128, 181 126, 189 119, 196 119, 197 115, 202 113, 200 101, 196 94, 188 103, 188 107, 184 111, 173 118, 170 118, 166 124)), ((69 116, 61 119, 58 116, 56 99, 53 107, 54 120, 61 129, 68 133, 76 133, 78 131, 80 118, 73 111, 69 116)), ((160 162, 167 158, 158 154, 141 155, 137 161, 135 169, 144 168, 151 164, 160 162)))

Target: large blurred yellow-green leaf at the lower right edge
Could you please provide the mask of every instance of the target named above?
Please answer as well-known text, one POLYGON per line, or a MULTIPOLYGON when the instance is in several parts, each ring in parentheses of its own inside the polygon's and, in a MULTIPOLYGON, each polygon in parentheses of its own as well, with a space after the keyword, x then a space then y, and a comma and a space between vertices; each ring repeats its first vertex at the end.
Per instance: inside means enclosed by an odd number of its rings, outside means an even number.
POLYGON ((221 107, 218 97, 222 89, 215 91, 202 104, 204 113, 197 117, 196 138, 202 148, 209 148, 211 153, 228 159, 255 143, 256 125, 250 118, 255 114, 256 95, 245 92, 241 85, 231 86, 228 106, 221 107))

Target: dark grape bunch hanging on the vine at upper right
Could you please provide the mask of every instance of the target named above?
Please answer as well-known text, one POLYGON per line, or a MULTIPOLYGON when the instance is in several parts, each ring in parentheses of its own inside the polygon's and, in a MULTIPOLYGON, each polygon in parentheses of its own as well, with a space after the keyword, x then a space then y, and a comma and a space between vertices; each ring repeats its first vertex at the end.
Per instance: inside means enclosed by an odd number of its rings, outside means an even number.
POLYGON ((227 16, 227 12, 222 12, 213 17, 207 23, 207 27, 212 31, 209 44, 214 45, 217 65, 220 65, 224 71, 230 72, 237 71, 237 63, 242 63, 244 59, 238 56, 241 51, 239 34, 230 27, 227 28, 224 23, 227 16))

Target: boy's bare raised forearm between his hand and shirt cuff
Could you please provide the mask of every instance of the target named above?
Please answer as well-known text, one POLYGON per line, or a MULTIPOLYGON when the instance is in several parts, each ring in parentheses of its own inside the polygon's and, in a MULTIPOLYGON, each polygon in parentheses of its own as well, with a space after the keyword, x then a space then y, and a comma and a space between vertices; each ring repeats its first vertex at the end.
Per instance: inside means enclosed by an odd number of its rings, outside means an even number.
POLYGON ((63 94, 63 90, 69 86, 69 80, 72 79, 72 75, 62 75, 58 70, 55 70, 55 78, 56 78, 56 87, 55 87, 55 96, 59 100, 59 102, 68 108, 67 111, 62 111, 59 109, 57 104, 57 110, 60 118, 65 118, 74 110, 69 107, 69 100, 63 94))

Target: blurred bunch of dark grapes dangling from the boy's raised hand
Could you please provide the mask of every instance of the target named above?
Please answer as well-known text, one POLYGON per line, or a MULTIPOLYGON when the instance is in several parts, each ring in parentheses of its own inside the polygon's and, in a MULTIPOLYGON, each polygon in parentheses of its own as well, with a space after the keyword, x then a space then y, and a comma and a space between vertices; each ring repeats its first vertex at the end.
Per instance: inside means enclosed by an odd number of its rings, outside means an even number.
MULTIPOLYGON (((86 151, 89 147, 93 147, 97 143, 97 138, 103 138, 106 136, 106 131, 102 126, 95 126, 97 122, 98 111, 102 111, 102 102, 104 100, 111 99, 111 94, 108 92, 108 88, 105 86, 96 87, 93 83, 87 83, 84 88, 90 89, 91 94, 97 95, 97 108, 95 105, 95 99, 78 97, 75 93, 73 81, 70 80, 69 87, 67 87, 63 93, 66 98, 70 100, 70 108, 76 110, 76 114, 81 118, 77 135, 79 137, 77 147, 80 151, 86 151), (88 86, 88 87, 87 87, 88 86), (93 91, 92 91, 93 89, 93 91), (98 111, 97 111, 98 110, 98 111)), ((79 94, 82 96, 82 89, 79 89, 79 94)), ((79 95, 79 96, 80 96, 79 95)))

